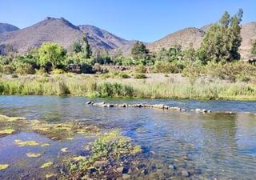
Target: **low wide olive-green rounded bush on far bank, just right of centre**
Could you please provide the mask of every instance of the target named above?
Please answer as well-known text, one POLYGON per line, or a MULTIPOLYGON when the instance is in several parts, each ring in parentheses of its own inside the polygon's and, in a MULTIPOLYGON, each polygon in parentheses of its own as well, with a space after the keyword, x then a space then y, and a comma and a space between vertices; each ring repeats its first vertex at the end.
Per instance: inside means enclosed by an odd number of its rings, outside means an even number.
POLYGON ((154 65, 154 73, 178 73, 178 66, 170 62, 157 62, 154 65))

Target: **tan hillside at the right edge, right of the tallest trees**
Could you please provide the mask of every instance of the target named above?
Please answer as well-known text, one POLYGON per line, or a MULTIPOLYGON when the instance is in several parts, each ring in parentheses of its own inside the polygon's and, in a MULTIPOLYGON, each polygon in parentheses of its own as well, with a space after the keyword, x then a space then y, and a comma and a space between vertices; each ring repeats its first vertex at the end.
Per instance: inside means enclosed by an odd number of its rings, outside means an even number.
POLYGON ((256 40, 256 22, 248 22, 242 25, 241 30, 242 44, 240 46, 240 53, 243 59, 250 58, 250 49, 252 47, 252 40, 256 40))

